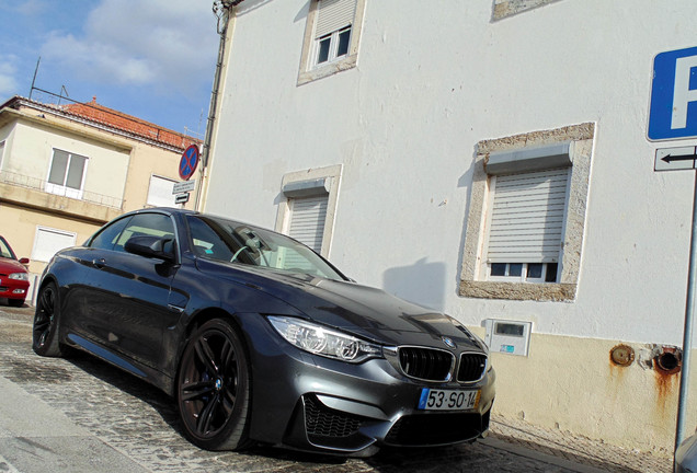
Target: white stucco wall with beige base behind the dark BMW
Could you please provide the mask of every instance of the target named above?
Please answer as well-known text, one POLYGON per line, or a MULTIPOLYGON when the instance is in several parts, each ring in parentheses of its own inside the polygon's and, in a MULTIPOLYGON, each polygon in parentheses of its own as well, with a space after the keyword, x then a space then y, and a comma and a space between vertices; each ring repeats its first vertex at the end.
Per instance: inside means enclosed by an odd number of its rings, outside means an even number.
POLYGON ((535 3, 492 21, 491 0, 368 1, 357 67, 298 86, 308 2, 245 1, 206 210, 273 227, 285 174, 343 164, 329 256, 347 275, 470 326, 533 322, 529 357, 495 355, 498 409, 619 438, 621 420, 607 420, 618 409, 633 419, 631 442, 670 447, 675 384, 661 417, 655 372, 613 371, 607 354, 619 342, 682 344, 694 175, 655 173, 653 161, 656 148, 695 142, 650 142, 645 130, 653 57, 695 45, 697 3, 535 3), (460 297, 477 145, 585 123, 595 131, 575 299, 460 297))

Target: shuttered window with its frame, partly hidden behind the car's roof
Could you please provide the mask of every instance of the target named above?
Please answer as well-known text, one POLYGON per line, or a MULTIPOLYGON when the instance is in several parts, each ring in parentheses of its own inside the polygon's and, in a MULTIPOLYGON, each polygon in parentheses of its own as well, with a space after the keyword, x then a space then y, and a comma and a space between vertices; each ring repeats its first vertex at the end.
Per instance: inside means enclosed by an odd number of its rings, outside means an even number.
POLYGON ((282 183, 285 201, 276 231, 329 256, 341 180, 341 164, 286 174, 282 183))

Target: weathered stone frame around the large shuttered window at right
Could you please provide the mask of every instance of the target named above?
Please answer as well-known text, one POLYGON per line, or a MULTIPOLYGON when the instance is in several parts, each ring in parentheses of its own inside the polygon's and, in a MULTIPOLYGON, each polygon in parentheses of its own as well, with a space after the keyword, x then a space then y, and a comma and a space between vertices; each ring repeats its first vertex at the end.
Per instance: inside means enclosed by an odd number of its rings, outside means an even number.
POLYGON ((589 199, 595 124, 533 131, 477 143, 477 158, 470 188, 469 216, 465 232, 459 296, 479 299, 507 299, 573 302, 581 270, 581 251, 589 199), (487 278, 487 216, 490 176, 485 164, 492 152, 519 151, 570 142, 571 176, 559 282, 507 282, 487 278))

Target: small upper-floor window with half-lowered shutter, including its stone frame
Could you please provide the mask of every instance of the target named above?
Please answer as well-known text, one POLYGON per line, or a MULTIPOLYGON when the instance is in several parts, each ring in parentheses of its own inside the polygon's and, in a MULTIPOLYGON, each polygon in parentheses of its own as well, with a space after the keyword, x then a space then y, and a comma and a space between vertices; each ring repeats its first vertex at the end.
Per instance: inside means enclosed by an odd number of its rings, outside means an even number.
POLYGON ((356 66, 365 0, 312 0, 298 84, 356 66))

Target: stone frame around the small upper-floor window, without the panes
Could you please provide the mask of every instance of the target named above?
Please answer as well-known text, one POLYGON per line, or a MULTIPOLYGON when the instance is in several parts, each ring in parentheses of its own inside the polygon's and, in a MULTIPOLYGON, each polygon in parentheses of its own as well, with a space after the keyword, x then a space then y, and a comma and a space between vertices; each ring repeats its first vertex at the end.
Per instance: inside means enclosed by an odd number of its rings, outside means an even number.
POLYGON ((310 0, 310 11, 307 15, 305 25, 305 37, 302 39, 302 55, 300 57, 300 71, 298 73, 298 85, 316 81, 338 72, 353 69, 358 65, 358 46, 361 44, 361 32, 363 30, 363 19, 365 13, 365 3, 367 0, 356 0, 356 11, 353 23, 351 25, 351 44, 348 53, 339 60, 315 65, 315 24, 319 11, 319 0, 310 0))

